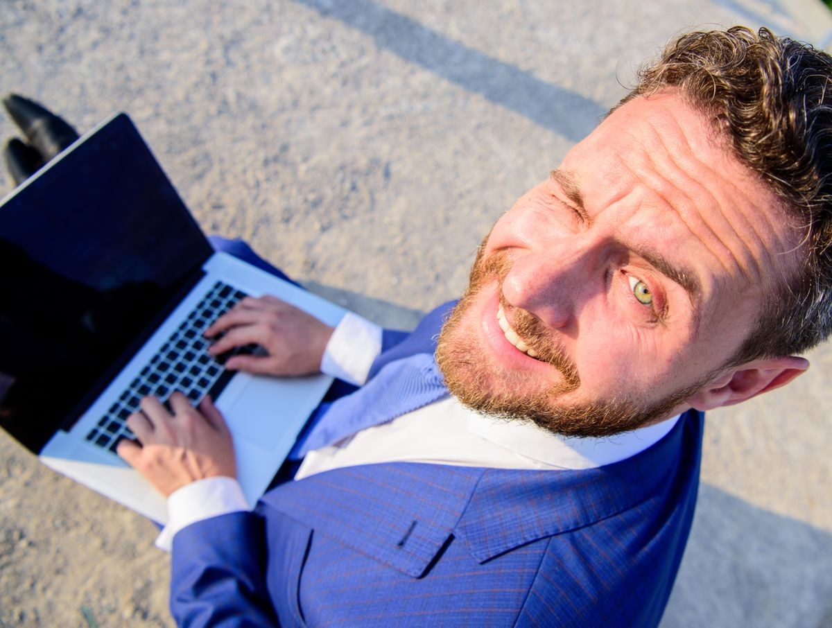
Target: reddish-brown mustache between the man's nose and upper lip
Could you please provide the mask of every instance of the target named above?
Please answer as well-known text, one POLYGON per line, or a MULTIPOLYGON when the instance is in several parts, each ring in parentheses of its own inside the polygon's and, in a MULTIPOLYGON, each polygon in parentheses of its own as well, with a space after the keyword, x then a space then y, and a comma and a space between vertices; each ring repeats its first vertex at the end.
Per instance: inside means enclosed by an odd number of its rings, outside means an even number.
POLYGON ((475 294, 484 283, 496 277, 499 285, 500 304, 503 305, 503 311, 507 317, 511 313, 511 325, 514 331, 526 344, 537 351, 536 359, 552 364, 561 372, 564 378, 563 392, 574 390, 581 385, 577 366, 567 356, 562 345, 557 342, 552 330, 547 329, 534 314, 508 303, 503 295, 503 280, 511 270, 512 264, 508 251, 500 250, 491 255, 485 255, 485 246, 479 245, 477 257, 474 260, 471 275, 468 279, 466 294, 475 294))

